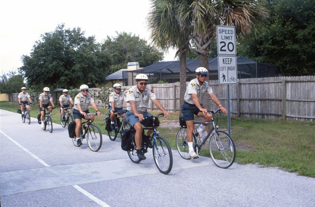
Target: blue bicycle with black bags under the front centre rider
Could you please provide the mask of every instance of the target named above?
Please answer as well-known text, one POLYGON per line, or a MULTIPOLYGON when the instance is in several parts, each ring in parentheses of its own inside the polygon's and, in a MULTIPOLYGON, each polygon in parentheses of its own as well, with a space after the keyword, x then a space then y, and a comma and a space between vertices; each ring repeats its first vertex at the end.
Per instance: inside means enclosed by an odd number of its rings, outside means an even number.
MULTIPOLYGON (((150 117, 150 119, 152 120, 152 127, 143 128, 143 130, 151 130, 151 129, 154 130, 150 137, 150 143, 153 140, 152 152, 153 152, 154 162, 155 162, 155 165, 157 166, 157 169, 160 172, 162 172, 163 174, 168 174, 172 170, 173 155, 172 155, 172 150, 167 140, 164 137, 159 136, 159 131, 156 130, 157 126, 159 126, 159 120, 158 120, 159 116, 164 116, 164 114, 161 113, 155 117, 150 117)), ((133 129, 133 127, 129 124, 128 121, 126 121, 125 124, 123 125, 123 129, 133 129)), ((135 133, 132 133, 132 134, 133 134, 132 148, 131 150, 127 151, 127 153, 131 161, 138 164, 141 160, 138 158, 138 155, 137 155, 137 146, 135 143, 135 136, 134 136, 135 133)), ((148 145, 142 139, 141 150, 143 151, 144 154, 148 152, 147 149, 148 149, 148 145)))

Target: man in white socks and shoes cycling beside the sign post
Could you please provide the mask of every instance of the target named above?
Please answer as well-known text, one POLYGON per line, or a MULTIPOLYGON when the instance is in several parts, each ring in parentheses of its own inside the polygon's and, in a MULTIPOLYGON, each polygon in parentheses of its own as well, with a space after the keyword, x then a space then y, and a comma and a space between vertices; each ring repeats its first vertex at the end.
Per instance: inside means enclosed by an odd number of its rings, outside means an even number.
MULTIPOLYGON (((208 70, 204 67, 199 67, 196 69, 196 78, 191 80, 188 83, 185 96, 184 103, 181 107, 181 112, 183 113, 186 124, 187 124, 187 142, 189 147, 189 156, 191 158, 198 158, 198 154, 194 151, 192 146, 192 132, 194 130, 194 114, 198 117, 203 117, 203 122, 211 122, 211 114, 207 114, 208 110, 203 108, 200 103, 205 93, 210 95, 210 98, 213 100, 215 104, 217 104, 223 113, 226 113, 226 109, 221 105, 218 98, 212 91, 210 84, 206 81, 206 77, 208 76, 208 70)), ((203 129, 208 124, 201 124, 197 128, 197 132, 199 136, 202 135, 203 129)))

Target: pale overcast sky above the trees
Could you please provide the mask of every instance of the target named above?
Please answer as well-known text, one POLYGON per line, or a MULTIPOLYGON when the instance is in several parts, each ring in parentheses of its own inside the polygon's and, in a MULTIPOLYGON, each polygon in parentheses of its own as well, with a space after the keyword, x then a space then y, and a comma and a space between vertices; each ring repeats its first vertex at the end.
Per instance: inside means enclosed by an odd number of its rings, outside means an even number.
MULTIPOLYGON (((0 75, 22 66, 21 56, 29 55, 35 41, 58 24, 65 28, 80 27, 85 36, 97 42, 118 32, 132 32, 148 43, 146 16, 149 0, 4 0, 0 4, 0 75)), ((174 60, 175 52, 164 54, 174 60)), ((141 67, 141 65, 140 65, 141 67)))

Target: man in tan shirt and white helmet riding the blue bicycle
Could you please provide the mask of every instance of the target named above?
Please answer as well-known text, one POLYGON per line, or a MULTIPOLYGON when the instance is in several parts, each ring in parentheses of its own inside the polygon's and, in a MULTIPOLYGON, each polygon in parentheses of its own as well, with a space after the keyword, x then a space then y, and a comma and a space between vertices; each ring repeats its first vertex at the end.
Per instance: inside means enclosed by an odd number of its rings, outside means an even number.
MULTIPOLYGON (((148 80, 148 76, 145 74, 138 74, 135 78, 136 85, 131 87, 127 92, 127 113, 126 118, 131 126, 136 130, 135 134, 135 143, 137 145, 137 155, 138 158, 143 160, 146 159, 142 150, 141 150, 141 141, 142 141, 142 125, 140 121, 144 119, 144 117, 153 116, 152 114, 146 111, 146 108, 149 103, 149 98, 153 101, 153 103, 157 106, 158 109, 163 111, 163 114, 168 117, 169 113, 163 108, 162 104, 157 100, 153 90, 151 88, 146 87, 146 82, 148 80)), ((150 136, 153 130, 148 130, 146 136, 150 136)), ((148 143, 148 147, 152 148, 152 143, 148 143)))

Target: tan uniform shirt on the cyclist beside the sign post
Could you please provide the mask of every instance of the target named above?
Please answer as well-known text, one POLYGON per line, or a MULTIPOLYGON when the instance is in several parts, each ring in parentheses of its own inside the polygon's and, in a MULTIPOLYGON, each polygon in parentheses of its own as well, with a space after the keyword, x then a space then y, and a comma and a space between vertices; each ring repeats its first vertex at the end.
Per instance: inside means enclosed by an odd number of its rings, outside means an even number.
POLYGON ((201 99, 203 98, 203 96, 206 93, 208 94, 213 93, 213 91, 212 91, 212 88, 210 87, 210 84, 207 81, 204 81, 204 83, 200 85, 198 82, 198 79, 195 78, 188 83, 185 96, 184 96, 184 100, 187 103, 195 104, 195 102, 192 100, 192 95, 191 95, 192 93, 197 94, 199 102, 201 103, 201 99))

